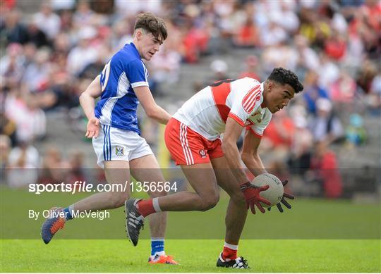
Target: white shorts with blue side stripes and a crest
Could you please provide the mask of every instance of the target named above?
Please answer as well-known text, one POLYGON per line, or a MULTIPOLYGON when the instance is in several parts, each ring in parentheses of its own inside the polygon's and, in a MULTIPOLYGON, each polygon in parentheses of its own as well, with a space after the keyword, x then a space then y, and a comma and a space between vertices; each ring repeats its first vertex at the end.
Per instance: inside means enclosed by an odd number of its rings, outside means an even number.
POLYGON ((101 168, 104 168, 104 161, 131 161, 153 154, 150 145, 138 133, 102 124, 98 137, 92 138, 92 147, 101 168))

